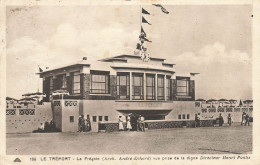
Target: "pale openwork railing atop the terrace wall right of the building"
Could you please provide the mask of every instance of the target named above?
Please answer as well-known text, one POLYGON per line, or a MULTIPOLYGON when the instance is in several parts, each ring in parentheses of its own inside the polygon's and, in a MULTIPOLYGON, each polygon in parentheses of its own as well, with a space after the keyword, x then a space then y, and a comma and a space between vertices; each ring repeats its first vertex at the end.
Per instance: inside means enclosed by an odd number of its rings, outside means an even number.
POLYGON ((253 107, 219 107, 219 108, 202 108, 202 113, 221 113, 221 112, 253 112, 253 107))

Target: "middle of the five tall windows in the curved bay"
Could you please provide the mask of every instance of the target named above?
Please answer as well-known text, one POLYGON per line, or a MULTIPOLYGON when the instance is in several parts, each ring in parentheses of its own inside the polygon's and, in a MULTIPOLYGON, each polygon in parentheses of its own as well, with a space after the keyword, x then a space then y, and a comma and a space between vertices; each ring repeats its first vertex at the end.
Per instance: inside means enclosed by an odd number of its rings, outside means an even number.
POLYGON ((146 99, 155 100, 155 75, 146 75, 146 99))

